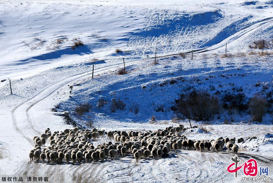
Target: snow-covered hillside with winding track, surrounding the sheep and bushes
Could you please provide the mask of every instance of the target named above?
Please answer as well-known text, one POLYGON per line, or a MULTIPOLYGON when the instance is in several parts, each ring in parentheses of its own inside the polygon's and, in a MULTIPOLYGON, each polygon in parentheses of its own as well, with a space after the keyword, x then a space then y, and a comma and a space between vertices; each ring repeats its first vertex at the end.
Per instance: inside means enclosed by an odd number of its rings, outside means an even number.
MULTIPOLYGON (((173 119, 172 108, 182 91, 272 98, 273 1, 0 1, 0 10, 1 177, 23 176, 25 182, 28 176, 48 176, 49 182, 235 181, 227 172, 232 162, 225 149, 178 150, 168 158, 139 163, 129 155, 68 165, 29 162, 28 153, 32 137, 46 128, 54 132, 73 127, 62 116, 65 110, 83 127, 91 116, 96 128, 144 132, 178 124, 190 127, 188 120, 173 119), (261 39, 268 42, 264 51, 271 55, 260 56, 261 49, 249 47, 261 39), (71 49, 79 40, 84 45, 71 49), (116 53, 117 48, 123 52, 116 53), (191 50, 198 50, 192 60, 191 50), (123 58, 128 74, 117 75, 123 58), (101 108, 100 98, 108 101, 101 108), (125 110, 111 112, 113 98, 121 99, 125 110), (129 111, 131 102, 140 105, 137 114, 129 111), (83 116, 75 112, 81 103, 93 106, 83 116), (163 111, 157 112, 161 106, 163 111), (151 122, 152 116, 156 121, 151 122)), ((270 113, 256 123, 244 112, 225 124, 223 114, 209 122, 192 121, 197 127, 182 134, 195 140, 258 137, 239 143, 238 156, 242 162, 254 158, 258 166, 269 167, 272 180, 272 122, 270 113)), ((237 181, 242 176, 240 171, 237 181)))

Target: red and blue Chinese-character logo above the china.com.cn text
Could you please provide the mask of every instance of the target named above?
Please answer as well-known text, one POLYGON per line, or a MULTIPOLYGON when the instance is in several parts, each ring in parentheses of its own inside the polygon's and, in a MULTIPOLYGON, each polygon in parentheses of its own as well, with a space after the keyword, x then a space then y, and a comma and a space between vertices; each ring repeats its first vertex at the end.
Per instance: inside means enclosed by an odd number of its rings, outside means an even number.
MULTIPOLYGON (((237 176, 238 176, 237 171, 240 170, 243 166, 244 166, 244 175, 249 175, 254 177, 258 174, 258 164, 257 164, 257 161, 254 159, 249 159, 248 161, 238 166, 238 163, 241 160, 238 159, 236 154, 234 157, 231 157, 231 161, 233 161, 233 163, 231 163, 227 167, 227 171, 229 173, 234 173, 235 179, 237 179, 237 176)), ((268 167, 260 167, 260 176, 261 175, 268 176, 268 167)))

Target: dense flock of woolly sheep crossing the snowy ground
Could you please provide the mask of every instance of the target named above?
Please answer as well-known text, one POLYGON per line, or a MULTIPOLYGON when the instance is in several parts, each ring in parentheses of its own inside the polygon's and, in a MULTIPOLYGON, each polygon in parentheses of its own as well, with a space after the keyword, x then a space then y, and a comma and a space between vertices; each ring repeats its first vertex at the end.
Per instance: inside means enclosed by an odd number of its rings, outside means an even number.
MULTIPOLYGON (((237 154, 238 145, 235 144, 235 138, 219 137, 216 140, 191 140, 181 134, 184 126, 180 124, 178 127, 166 127, 164 130, 156 131, 108 131, 108 139, 114 139, 107 143, 98 144, 96 147, 91 143, 98 140, 99 137, 104 138, 106 132, 104 130, 80 130, 78 127, 66 129, 64 131, 50 132, 49 128, 41 137, 33 137, 34 149, 29 152, 30 161, 33 158, 42 163, 47 159, 48 163, 62 163, 63 160, 68 164, 90 161, 104 161, 110 156, 110 159, 118 158, 120 155, 125 157, 131 154, 138 162, 141 158, 145 160, 153 157, 153 159, 167 157, 169 151, 177 152, 177 149, 210 151, 211 149, 218 152, 224 148, 226 144, 228 152, 237 154), (45 147, 45 143, 49 141, 49 146, 45 147), (41 147, 44 146, 42 149, 41 147)), ((243 138, 237 140, 238 143, 244 141, 243 138)))

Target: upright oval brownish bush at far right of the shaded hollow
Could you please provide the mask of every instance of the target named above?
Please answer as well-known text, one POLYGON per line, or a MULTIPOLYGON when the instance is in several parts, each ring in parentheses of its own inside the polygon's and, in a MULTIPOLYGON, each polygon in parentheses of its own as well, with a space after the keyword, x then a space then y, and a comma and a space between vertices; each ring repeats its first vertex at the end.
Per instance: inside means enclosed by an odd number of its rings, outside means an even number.
POLYGON ((260 95, 255 95, 248 102, 249 113, 252 121, 262 122, 266 112, 267 101, 260 95))

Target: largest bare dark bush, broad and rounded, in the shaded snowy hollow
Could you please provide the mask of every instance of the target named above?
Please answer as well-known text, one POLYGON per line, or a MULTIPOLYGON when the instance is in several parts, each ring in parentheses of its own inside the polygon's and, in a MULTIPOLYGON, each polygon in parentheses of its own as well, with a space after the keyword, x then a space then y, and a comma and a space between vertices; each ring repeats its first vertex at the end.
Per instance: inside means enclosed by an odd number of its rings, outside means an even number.
POLYGON ((181 94, 177 103, 178 112, 195 121, 213 120, 219 107, 217 97, 206 91, 193 91, 187 95, 181 94))

